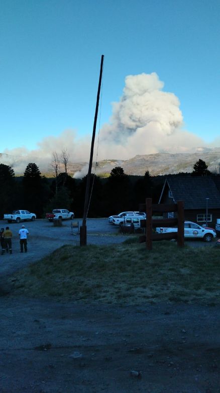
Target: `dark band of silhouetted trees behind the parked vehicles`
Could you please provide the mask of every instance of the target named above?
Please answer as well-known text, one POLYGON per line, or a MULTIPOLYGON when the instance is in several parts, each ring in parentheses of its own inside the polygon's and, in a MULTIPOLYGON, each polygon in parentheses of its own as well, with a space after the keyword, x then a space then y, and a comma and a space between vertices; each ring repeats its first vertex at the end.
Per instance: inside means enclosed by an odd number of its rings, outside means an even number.
MULTIPOLYGON (((68 174, 68 156, 64 172, 60 172, 57 156, 53 157, 54 174, 46 178, 41 174, 35 163, 29 163, 24 175, 16 177, 14 169, 0 164, 0 218, 13 210, 25 209, 36 213, 37 218, 44 218, 45 213, 56 208, 73 211, 75 217, 83 216, 84 197, 87 176, 74 179, 68 174)), ((173 176, 209 176, 204 161, 198 160, 193 166, 192 173, 179 173, 173 176)), ((215 173, 216 175, 216 173, 215 173)), ((107 178, 91 175, 90 205, 88 217, 107 217, 124 210, 139 210, 139 204, 145 203, 146 198, 152 198, 158 203, 164 176, 151 176, 149 171, 144 176, 130 176, 124 173, 120 166, 112 169, 107 178)))

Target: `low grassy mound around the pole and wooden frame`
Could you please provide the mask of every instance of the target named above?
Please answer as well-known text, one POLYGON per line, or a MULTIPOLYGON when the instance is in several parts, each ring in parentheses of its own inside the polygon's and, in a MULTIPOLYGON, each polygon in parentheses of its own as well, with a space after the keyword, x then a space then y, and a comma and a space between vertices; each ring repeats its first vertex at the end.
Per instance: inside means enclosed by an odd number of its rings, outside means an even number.
POLYGON ((220 302, 220 249, 128 238, 114 246, 63 246, 10 277, 12 294, 73 301, 141 304, 220 302))

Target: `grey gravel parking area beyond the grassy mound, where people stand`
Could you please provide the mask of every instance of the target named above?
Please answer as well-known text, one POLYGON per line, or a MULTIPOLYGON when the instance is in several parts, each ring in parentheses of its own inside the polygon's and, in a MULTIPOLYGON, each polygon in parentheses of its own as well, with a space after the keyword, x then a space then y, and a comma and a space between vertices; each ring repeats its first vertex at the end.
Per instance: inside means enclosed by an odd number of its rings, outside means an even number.
MULTIPOLYGON (((77 220, 74 220, 74 223, 77 220)), ((79 220, 81 225, 82 220, 79 220)), ((25 223, 8 224, 0 221, 1 228, 9 226, 13 233, 12 250, 13 253, 0 255, 0 276, 12 274, 14 271, 41 259, 43 256, 54 251, 64 244, 79 245, 79 234, 77 228, 71 230, 71 221, 63 221, 62 227, 55 227, 48 220, 36 220, 25 223), (22 224, 29 231, 28 252, 20 253, 20 237, 18 235, 22 224)), ((126 236, 119 234, 118 227, 108 224, 107 218, 87 219, 87 244, 113 244, 125 240, 126 236)))

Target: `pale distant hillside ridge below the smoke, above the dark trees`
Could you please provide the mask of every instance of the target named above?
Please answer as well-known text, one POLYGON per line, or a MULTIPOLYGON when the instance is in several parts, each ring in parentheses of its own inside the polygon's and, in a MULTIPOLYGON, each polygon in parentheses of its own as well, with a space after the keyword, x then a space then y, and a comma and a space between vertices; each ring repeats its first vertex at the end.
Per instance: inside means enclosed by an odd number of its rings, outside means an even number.
MULTIPOLYGON (((129 160, 102 160, 93 164, 92 172, 99 176, 108 176, 113 168, 121 166, 128 175, 144 175, 148 170, 151 175, 164 175, 179 172, 192 172, 193 165, 199 159, 206 162, 210 171, 219 173, 220 148, 197 148, 196 153, 156 153, 137 155, 129 160)), ((11 165, 16 174, 23 174, 29 162, 35 162, 42 173, 49 172, 49 164, 39 158, 13 157, 0 154, 0 162, 11 165)), ((87 173, 86 162, 69 162, 69 172, 76 177, 87 173)), ((52 172, 51 172, 52 173, 52 172)))

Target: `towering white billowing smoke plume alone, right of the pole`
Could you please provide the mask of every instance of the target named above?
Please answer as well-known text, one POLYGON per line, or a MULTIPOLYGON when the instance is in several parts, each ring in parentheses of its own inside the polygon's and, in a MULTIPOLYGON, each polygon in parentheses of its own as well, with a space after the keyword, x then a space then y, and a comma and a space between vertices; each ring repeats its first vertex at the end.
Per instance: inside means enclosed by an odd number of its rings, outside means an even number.
POLYGON ((128 159, 136 154, 186 152, 203 145, 202 139, 184 132, 180 102, 173 93, 162 91, 156 73, 126 77, 123 96, 113 103, 109 124, 101 130, 105 156, 128 159))

